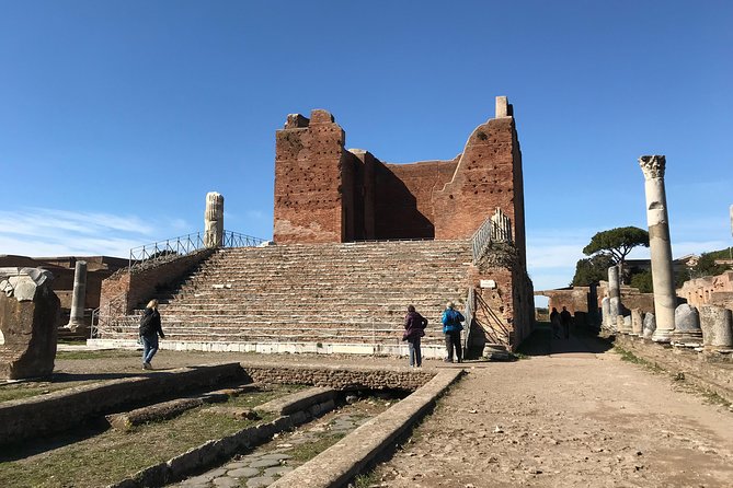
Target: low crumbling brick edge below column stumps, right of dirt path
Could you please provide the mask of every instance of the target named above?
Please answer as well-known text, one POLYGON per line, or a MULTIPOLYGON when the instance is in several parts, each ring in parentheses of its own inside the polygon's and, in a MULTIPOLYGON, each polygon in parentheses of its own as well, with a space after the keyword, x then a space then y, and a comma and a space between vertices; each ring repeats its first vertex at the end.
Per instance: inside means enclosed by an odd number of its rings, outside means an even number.
POLYGON ((640 337, 616 335, 608 340, 656 364, 673 376, 684 377, 685 382, 733 403, 733 368, 730 362, 715 362, 711 360, 714 356, 710 353, 673 348, 640 337))

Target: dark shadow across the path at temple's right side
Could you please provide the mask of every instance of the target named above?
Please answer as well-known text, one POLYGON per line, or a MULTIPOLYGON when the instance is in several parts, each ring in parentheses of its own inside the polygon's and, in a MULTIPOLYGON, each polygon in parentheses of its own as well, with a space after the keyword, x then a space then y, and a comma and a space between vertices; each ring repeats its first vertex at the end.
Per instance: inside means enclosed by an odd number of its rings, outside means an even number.
POLYGON ((611 344, 597 337, 596 332, 587 328, 572 328, 570 337, 554 338, 548 322, 538 322, 535 330, 527 337, 518 352, 527 356, 549 356, 568 353, 600 355, 611 348, 611 344))

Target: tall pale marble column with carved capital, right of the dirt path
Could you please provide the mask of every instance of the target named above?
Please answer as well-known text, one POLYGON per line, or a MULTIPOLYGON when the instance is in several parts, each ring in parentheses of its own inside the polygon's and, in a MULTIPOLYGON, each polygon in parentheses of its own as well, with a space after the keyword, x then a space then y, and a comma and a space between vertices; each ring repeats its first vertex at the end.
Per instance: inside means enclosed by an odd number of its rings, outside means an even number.
POLYGON ((639 158, 644 173, 646 194, 646 224, 649 225, 649 247, 652 257, 652 284, 654 287, 654 317, 656 329, 652 340, 668 342, 675 328, 677 297, 672 272, 672 244, 667 218, 667 197, 664 190, 663 155, 639 158))

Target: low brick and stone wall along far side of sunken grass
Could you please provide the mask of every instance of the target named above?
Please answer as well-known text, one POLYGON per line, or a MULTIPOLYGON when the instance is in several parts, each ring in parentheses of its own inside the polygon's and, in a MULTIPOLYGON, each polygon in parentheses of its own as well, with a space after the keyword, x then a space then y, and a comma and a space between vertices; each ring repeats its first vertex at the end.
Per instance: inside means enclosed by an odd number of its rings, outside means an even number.
POLYGON ((308 384, 341 391, 414 391, 434 374, 378 368, 321 365, 273 367, 226 363, 110 380, 47 395, 0 403, 0 444, 61 432, 126 406, 162 400, 185 392, 248 379, 259 383, 308 384))

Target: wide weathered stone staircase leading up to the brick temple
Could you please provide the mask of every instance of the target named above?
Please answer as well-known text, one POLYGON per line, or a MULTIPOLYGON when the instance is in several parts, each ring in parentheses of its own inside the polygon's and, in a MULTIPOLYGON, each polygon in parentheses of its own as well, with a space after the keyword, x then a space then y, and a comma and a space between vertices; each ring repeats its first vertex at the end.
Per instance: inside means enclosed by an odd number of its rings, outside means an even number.
MULTIPOLYGON (((220 249, 160 297, 165 349, 406 352, 409 304, 428 319, 423 351, 443 355, 440 314, 468 292, 467 241, 289 244, 220 249)), ((93 342, 134 342, 136 319, 93 342)))

